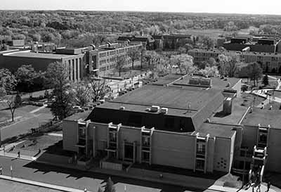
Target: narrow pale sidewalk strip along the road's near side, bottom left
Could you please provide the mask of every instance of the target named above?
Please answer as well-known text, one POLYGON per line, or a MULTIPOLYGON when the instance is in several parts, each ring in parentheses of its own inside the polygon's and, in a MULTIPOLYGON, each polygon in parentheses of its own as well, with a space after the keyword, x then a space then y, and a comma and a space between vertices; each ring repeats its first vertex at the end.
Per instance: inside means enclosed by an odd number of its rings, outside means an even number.
MULTIPOLYGON (((15 181, 15 182, 19 182, 22 184, 30 184, 33 186, 41 186, 44 188, 51 188, 51 189, 55 189, 55 190, 59 190, 59 191, 65 191, 65 192, 84 192, 84 190, 81 189, 77 189, 77 188, 69 188, 69 187, 65 187, 65 186, 57 186, 57 185, 53 185, 53 184, 46 184, 46 183, 42 183, 42 182, 38 182, 38 181, 30 181, 27 179, 20 179, 20 178, 16 178, 16 177, 10 177, 10 176, 6 176, 6 175, 0 175, 0 179, 6 179, 9 181, 15 181)), ((91 192, 91 191, 88 191, 91 192)))

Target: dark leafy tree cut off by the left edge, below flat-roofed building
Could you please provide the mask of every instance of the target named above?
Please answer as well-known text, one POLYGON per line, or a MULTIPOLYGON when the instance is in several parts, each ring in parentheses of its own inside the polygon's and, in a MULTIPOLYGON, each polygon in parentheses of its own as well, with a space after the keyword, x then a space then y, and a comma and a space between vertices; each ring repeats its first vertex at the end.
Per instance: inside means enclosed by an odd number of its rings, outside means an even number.
POLYGON ((0 69, 0 88, 2 94, 9 94, 15 89, 17 83, 15 76, 8 69, 0 69))

